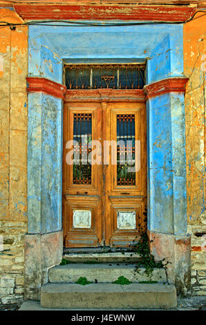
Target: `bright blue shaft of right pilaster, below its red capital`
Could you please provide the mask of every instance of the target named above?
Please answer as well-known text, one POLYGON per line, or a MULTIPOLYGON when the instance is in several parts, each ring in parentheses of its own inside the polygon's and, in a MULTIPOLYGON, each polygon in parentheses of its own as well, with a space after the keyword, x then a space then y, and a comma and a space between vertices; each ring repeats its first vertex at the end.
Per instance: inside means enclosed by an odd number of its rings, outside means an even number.
POLYGON ((187 232, 184 96, 147 101, 149 230, 187 232))

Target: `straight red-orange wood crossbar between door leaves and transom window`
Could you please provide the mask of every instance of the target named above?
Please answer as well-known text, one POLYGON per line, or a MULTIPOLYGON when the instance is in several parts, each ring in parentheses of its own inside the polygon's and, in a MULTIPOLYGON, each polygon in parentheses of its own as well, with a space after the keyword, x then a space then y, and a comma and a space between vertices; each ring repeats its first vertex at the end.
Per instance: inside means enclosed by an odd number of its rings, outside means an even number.
POLYGON ((145 102, 143 89, 77 89, 66 90, 65 102, 145 102))

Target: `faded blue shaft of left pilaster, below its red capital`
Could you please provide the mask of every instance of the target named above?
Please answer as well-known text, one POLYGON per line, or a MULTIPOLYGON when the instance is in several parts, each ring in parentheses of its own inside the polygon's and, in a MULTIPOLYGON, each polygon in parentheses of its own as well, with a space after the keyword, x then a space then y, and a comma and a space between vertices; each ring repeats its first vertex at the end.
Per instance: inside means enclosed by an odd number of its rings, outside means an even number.
POLYGON ((62 229, 62 100, 29 93, 28 232, 62 229))

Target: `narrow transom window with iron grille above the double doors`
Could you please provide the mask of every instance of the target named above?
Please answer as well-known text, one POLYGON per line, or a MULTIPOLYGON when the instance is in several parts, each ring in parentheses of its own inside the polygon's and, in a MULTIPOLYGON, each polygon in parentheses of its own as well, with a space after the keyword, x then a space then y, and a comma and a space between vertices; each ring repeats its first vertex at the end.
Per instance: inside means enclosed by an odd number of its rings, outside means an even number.
POLYGON ((145 64, 66 64, 67 89, 143 89, 145 64))

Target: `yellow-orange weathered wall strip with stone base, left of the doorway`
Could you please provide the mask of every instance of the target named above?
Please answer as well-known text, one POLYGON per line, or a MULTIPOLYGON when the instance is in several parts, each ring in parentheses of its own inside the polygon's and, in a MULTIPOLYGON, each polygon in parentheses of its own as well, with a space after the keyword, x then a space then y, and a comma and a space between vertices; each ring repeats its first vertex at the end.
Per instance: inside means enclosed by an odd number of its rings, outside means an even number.
MULTIPOLYGON (((21 23, 0 8, 0 20, 21 23)), ((24 297, 24 234, 27 231, 28 28, 0 28, 0 305, 24 297), (2 238, 2 237, 1 237, 2 238)))

